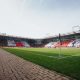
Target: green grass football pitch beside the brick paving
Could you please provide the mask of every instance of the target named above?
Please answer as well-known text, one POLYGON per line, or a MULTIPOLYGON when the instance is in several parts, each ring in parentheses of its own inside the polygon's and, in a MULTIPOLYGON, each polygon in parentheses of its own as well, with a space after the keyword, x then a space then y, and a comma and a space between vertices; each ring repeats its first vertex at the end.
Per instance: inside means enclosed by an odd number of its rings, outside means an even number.
POLYGON ((80 48, 4 48, 25 60, 80 80, 80 48))

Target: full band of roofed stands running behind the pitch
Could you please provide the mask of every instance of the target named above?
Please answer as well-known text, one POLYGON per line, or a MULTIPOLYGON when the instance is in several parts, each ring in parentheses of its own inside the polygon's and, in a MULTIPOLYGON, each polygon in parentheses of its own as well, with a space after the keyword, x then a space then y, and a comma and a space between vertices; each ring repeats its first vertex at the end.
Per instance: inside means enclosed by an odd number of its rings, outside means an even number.
POLYGON ((32 39, 24 37, 0 34, 1 47, 80 47, 80 32, 62 34, 43 39, 32 39), (61 41, 60 41, 61 39, 61 41))

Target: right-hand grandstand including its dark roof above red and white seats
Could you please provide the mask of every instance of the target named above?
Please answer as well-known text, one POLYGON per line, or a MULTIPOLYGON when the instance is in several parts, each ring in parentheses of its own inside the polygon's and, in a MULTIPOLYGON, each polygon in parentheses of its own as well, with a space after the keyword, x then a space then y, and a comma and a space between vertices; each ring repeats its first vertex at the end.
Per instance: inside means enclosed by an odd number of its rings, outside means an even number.
POLYGON ((61 35, 61 42, 57 37, 49 38, 49 42, 45 45, 48 48, 56 47, 80 47, 80 33, 70 33, 61 35), (50 41, 51 40, 51 41, 50 41))

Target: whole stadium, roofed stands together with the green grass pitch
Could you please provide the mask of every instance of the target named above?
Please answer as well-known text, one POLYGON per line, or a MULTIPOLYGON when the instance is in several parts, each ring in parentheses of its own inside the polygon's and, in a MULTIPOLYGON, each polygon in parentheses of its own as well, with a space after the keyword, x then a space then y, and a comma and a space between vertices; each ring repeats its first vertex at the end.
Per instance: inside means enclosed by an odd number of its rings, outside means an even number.
MULTIPOLYGON (((80 32, 43 39, 0 35, 0 47, 46 69, 80 79, 80 32)), ((51 79, 52 80, 52 79, 51 79)), ((57 80, 57 79, 54 79, 57 80)), ((61 79, 67 80, 67 79, 61 79)))

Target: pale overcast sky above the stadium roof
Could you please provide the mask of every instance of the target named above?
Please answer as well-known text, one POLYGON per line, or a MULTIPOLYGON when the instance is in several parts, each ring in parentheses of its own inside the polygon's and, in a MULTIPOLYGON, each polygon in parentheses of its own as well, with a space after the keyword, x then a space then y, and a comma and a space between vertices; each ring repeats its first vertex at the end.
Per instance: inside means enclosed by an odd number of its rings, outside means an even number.
POLYGON ((0 32, 42 38, 80 25, 80 0, 0 0, 0 32))

